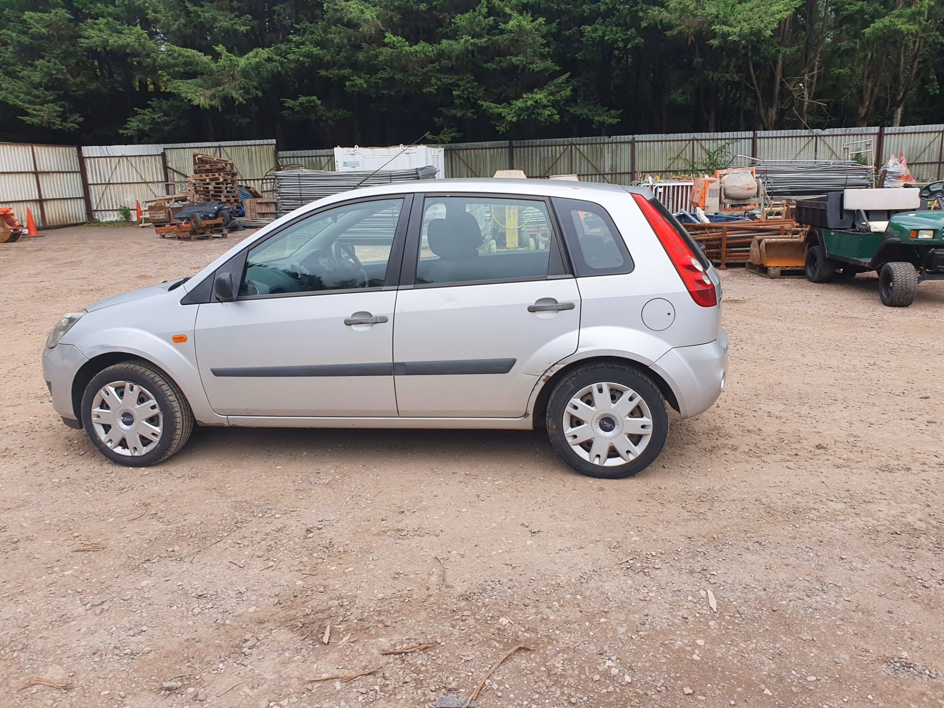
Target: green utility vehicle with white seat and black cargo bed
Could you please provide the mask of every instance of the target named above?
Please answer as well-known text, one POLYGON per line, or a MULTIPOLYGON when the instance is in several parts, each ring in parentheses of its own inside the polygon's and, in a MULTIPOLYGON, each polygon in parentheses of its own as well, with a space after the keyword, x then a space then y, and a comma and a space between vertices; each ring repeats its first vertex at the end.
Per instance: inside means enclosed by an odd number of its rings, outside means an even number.
POLYGON ((944 211, 927 210, 917 189, 854 189, 800 200, 797 221, 811 227, 811 282, 877 271, 882 303, 907 307, 919 282, 944 279, 944 211))

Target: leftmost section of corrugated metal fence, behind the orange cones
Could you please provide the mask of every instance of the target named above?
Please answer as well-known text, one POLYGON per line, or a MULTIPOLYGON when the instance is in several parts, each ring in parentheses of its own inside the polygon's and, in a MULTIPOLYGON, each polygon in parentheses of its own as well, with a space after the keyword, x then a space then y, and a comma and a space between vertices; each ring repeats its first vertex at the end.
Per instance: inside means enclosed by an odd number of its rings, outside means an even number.
POLYGON ((85 222, 76 148, 0 143, 0 207, 12 207, 24 224, 28 209, 39 228, 85 222))

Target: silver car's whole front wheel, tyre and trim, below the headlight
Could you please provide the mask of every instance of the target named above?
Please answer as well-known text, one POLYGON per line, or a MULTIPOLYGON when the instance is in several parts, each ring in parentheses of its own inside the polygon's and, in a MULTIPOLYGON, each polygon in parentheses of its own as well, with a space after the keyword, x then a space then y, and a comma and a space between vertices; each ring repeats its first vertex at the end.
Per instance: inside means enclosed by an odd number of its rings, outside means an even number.
POLYGON ((139 362, 96 374, 82 396, 82 427, 105 457, 128 467, 158 464, 184 446, 194 413, 177 384, 139 362))

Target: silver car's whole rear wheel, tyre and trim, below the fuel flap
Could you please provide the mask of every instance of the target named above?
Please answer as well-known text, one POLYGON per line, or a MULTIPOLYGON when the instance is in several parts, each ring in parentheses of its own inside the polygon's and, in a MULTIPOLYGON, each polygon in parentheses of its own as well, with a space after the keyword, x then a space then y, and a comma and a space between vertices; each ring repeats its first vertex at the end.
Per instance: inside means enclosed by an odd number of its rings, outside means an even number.
POLYGON ((646 469, 666 445, 659 389, 630 366, 599 363, 565 376, 548 400, 550 443, 574 469, 616 480, 646 469))

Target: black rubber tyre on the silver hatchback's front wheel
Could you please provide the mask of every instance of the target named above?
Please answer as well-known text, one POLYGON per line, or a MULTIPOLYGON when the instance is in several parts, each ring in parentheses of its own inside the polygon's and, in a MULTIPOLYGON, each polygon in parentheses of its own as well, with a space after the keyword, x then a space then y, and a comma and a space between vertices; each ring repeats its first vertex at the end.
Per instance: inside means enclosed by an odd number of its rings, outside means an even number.
MULTIPOLYGON (((125 391, 126 389, 121 391, 122 397, 124 397, 125 391)), ((124 401, 121 401, 121 403, 124 404, 124 401)), ((177 384, 159 369, 141 362, 116 363, 96 374, 89 385, 85 387, 85 393, 82 396, 81 414, 82 427, 92 444, 112 462, 124 464, 128 467, 147 467, 151 464, 163 462, 186 444, 194 430, 194 413, 190 410, 190 405, 177 384), (138 444, 141 445, 143 454, 134 456, 121 454, 111 449, 98 436, 99 432, 96 430, 92 418, 94 398, 100 389, 115 381, 126 381, 140 386, 144 389, 145 394, 149 393, 154 397, 154 402, 157 403, 160 410, 162 422, 160 439, 152 443, 145 442, 142 444, 139 438, 138 444), (145 447, 148 445, 149 447, 145 447)), ((157 415, 146 420, 153 422, 156 417, 157 415)), ((131 420, 134 422, 133 415, 131 420)), ((100 428, 108 434, 112 426, 102 425, 100 428)), ((115 447, 129 449, 131 446, 128 444, 126 436, 123 436, 117 439, 115 447)))

